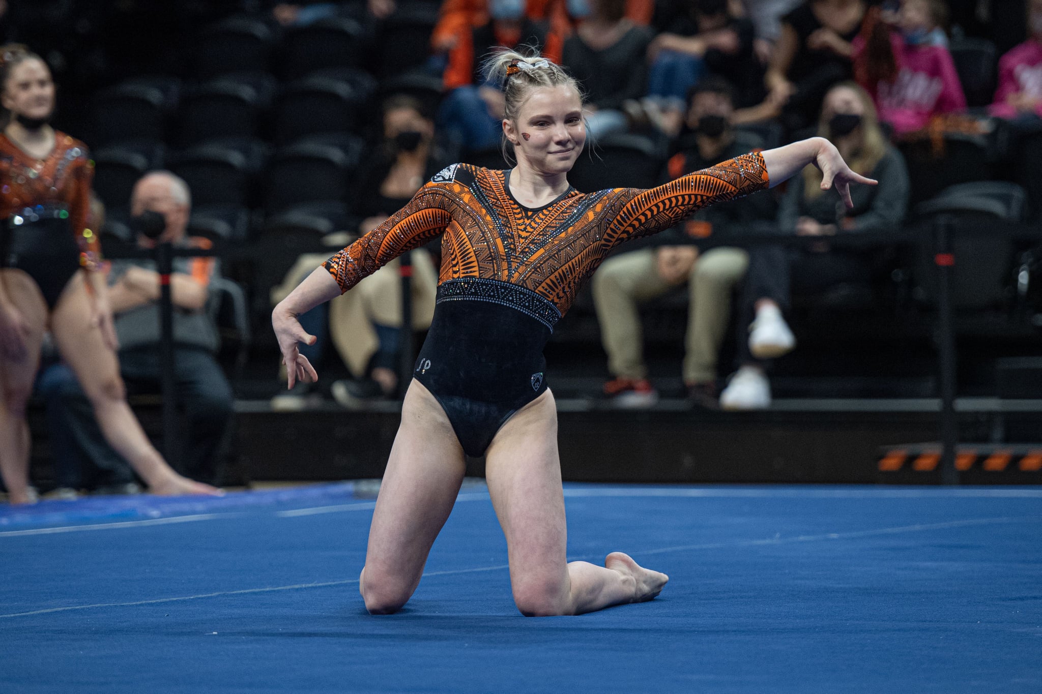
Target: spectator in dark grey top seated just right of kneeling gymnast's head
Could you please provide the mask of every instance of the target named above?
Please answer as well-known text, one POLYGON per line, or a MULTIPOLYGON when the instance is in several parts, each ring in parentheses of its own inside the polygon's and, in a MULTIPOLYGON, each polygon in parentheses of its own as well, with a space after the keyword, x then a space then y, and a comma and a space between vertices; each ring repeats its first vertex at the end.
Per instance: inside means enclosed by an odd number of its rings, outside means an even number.
POLYGON ((587 133, 628 128, 626 101, 644 96, 651 30, 626 19, 625 0, 589 0, 590 15, 566 42, 562 65, 586 91, 587 133))

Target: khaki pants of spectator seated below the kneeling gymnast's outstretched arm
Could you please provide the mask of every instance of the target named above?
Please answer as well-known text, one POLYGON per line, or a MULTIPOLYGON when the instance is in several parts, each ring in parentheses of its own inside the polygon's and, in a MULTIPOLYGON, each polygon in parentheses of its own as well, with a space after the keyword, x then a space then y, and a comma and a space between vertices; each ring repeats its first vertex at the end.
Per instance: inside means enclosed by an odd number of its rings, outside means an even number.
MULTIPOLYGON (((686 383, 716 379, 717 355, 727 330, 731 292, 745 276, 748 263, 748 254, 735 248, 711 249, 695 261, 688 280, 686 383)), ((607 353, 607 368, 613 375, 630 379, 647 377, 637 307, 675 286, 667 284, 655 269, 654 249, 610 258, 594 274, 594 305, 607 353)))

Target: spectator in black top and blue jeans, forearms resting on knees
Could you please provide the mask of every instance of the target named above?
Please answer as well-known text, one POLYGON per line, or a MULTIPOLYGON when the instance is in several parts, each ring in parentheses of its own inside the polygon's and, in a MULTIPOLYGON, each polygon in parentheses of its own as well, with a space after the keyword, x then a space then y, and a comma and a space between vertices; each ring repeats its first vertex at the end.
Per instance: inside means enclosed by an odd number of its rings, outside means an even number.
POLYGON ((735 86, 739 107, 763 98, 763 69, 753 53, 752 22, 735 10, 741 12, 741 5, 728 0, 659 6, 654 24, 662 33, 648 51, 648 94, 676 111, 676 124, 683 120, 688 91, 708 73, 720 75, 735 86))

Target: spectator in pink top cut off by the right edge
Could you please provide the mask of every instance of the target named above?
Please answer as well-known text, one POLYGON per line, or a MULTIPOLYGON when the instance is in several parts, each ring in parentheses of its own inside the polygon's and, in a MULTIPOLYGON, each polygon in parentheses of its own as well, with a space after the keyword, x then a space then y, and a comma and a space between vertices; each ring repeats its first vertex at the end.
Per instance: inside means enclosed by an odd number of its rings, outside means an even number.
POLYGON ((1023 125, 1042 125, 1042 0, 1027 3, 1031 36, 998 61, 994 115, 1023 125))

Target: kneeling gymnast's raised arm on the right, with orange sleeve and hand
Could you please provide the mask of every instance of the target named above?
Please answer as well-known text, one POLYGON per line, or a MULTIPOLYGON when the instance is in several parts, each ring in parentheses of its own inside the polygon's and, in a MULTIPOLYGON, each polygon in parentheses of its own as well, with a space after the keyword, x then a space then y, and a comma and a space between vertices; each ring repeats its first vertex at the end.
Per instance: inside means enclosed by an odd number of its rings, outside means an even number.
POLYGON ((821 188, 836 187, 843 202, 852 207, 850 184, 875 185, 875 181, 850 171, 836 147, 824 137, 811 137, 765 152, 754 152, 696 171, 665 185, 647 190, 618 188, 613 197, 624 203, 606 220, 603 239, 607 247, 636 236, 668 229, 693 212, 714 203, 747 196, 789 180, 808 164, 822 174, 821 188))

